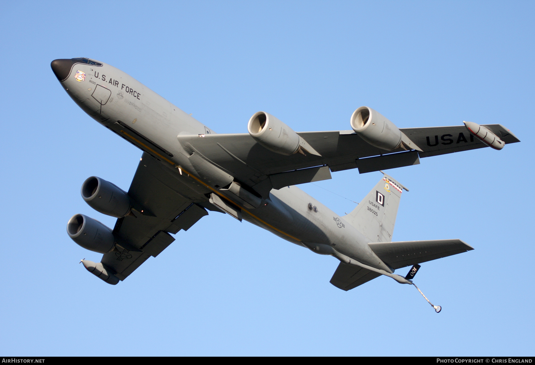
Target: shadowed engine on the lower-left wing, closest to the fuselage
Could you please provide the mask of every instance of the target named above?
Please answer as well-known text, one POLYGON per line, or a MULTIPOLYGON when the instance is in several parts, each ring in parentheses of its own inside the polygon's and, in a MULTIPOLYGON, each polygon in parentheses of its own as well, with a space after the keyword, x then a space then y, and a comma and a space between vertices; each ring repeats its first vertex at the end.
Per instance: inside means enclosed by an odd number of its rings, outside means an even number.
POLYGON ((80 193, 89 206, 102 214, 121 218, 130 211, 128 194, 116 185, 91 176, 83 182, 80 193))

